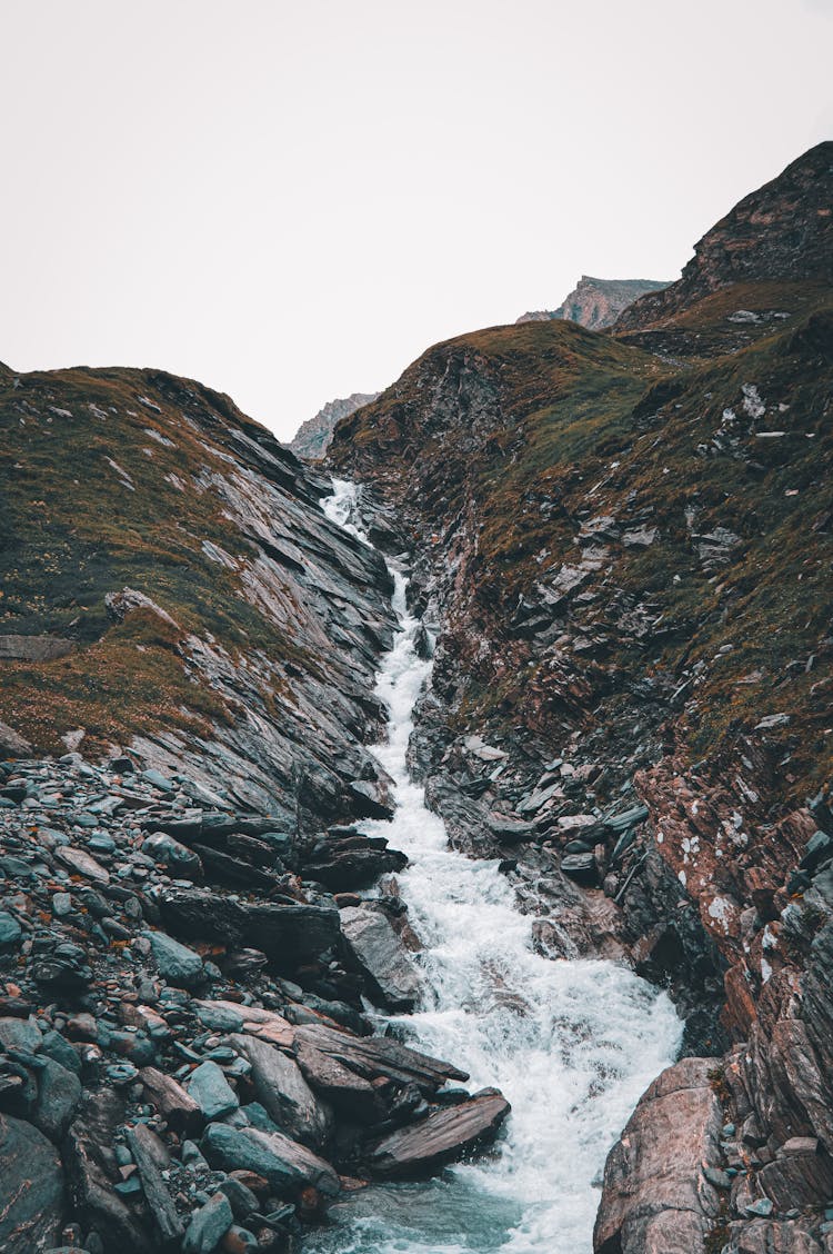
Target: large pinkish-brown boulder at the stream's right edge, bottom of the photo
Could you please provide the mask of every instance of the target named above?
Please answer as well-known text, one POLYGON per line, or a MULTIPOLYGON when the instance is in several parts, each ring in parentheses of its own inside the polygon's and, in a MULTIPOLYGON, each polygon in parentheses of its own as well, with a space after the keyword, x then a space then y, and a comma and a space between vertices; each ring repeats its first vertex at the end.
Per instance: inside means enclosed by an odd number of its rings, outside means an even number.
POLYGON ((650 1086, 605 1165, 596 1254, 693 1254, 719 1211, 703 1167, 719 1161, 720 1106, 708 1058, 650 1086))

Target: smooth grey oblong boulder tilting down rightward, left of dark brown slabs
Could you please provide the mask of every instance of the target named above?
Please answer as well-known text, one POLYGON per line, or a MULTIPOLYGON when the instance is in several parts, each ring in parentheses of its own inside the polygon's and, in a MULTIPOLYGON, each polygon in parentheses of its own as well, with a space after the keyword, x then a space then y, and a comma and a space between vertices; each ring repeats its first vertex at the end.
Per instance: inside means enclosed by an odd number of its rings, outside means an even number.
POLYGON ((251 1062, 256 1097, 269 1117, 293 1140, 319 1149, 332 1114, 309 1088, 298 1063, 253 1036, 233 1036, 232 1043, 251 1062))

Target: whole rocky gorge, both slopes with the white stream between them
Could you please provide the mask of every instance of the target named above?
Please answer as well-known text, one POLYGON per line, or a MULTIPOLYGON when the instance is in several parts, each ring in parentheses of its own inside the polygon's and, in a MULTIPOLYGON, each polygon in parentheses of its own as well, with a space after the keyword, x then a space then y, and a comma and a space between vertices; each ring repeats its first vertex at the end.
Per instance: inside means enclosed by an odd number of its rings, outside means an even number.
POLYGON ((832 191, 323 461, 0 365, 3 1250, 833 1250, 832 191))

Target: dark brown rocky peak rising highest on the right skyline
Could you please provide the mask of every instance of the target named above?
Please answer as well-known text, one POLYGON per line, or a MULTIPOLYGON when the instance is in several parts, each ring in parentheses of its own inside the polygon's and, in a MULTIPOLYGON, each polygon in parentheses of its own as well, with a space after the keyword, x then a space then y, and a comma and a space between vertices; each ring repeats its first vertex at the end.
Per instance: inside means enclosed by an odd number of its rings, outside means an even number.
POLYGON ((730 283, 833 281, 833 142, 745 196, 694 246, 681 277, 643 296, 615 329, 639 331, 730 283))

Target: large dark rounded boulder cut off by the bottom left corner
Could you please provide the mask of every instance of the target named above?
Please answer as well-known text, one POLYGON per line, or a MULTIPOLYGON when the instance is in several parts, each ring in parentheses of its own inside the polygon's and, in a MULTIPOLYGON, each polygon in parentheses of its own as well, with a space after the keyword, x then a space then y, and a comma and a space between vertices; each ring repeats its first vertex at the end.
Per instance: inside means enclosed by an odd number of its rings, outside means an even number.
POLYGON ((0 1114, 0 1249, 36 1254, 58 1244, 64 1175, 58 1151, 31 1124, 0 1114))

